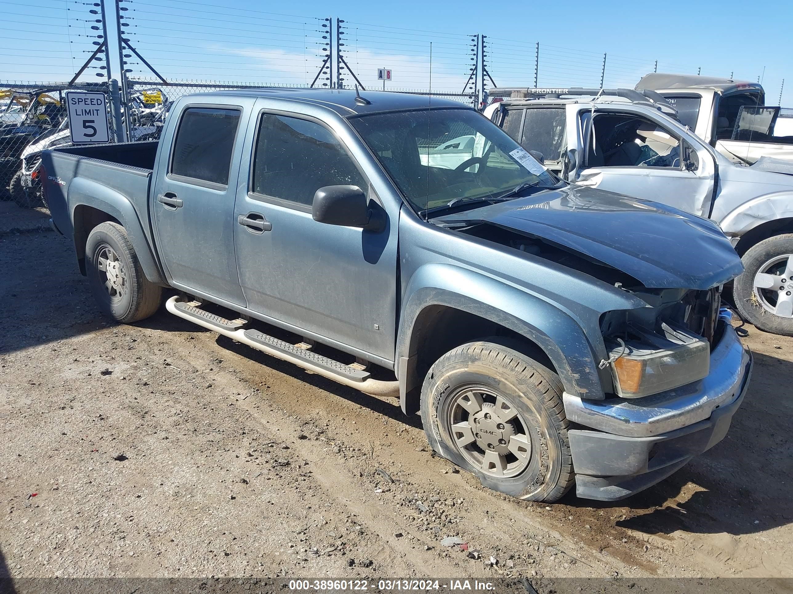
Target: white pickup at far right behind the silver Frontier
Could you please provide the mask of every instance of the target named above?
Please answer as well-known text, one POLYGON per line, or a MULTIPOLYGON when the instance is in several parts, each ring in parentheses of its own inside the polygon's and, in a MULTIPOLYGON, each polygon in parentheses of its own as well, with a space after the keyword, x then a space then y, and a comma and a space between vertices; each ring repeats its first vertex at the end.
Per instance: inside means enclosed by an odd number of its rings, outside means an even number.
MULTIPOLYGON (((763 166, 793 163, 793 117, 791 110, 765 105, 765 91, 758 82, 695 74, 652 72, 636 90, 652 90, 677 110, 680 123, 691 128, 730 161, 763 166)), ((787 169, 787 173, 793 171, 787 169)))

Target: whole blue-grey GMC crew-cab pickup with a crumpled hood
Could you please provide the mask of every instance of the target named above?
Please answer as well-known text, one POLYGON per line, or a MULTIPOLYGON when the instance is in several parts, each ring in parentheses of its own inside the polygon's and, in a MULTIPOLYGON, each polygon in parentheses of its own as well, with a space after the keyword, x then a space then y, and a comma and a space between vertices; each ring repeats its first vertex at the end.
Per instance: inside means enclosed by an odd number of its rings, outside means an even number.
POLYGON ((159 143, 43 163, 112 318, 175 289, 171 314, 420 410, 433 450, 511 496, 646 489, 744 398, 752 358, 719 307, 741 260, 718 227, 568 185, 458 103, 201 93, 159 143))

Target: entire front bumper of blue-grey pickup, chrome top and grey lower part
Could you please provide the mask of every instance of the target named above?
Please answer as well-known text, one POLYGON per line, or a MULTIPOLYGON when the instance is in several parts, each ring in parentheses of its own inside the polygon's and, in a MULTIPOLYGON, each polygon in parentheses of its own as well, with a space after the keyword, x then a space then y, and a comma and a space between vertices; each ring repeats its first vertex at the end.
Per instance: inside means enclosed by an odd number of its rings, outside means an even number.
POLYGON ((578 497, 616 501, 668 477, 718 444, 743 401, 752 354, 722 319, 703 379, 645 398, 586 401, 564 395, 578 497))

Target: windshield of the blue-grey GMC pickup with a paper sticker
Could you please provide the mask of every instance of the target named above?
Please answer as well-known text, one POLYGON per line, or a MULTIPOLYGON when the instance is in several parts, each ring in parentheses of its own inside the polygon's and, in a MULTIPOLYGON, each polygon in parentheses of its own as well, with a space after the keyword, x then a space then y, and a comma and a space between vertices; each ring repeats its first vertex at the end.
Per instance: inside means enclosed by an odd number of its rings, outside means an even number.
POLYGON ((381 113, 350 121, 417 211, 558 181, 473 109, 381 113))

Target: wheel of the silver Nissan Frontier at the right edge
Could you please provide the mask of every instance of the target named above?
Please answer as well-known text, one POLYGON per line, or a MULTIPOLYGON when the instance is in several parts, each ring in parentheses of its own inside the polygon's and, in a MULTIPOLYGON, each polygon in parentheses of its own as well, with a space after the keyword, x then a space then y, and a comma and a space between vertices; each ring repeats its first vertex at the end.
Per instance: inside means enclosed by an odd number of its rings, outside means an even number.
POLYGON ((793 336, 793 234, 776 235, 744 254, 733 287, 738 313, 760 330, 793 336))

